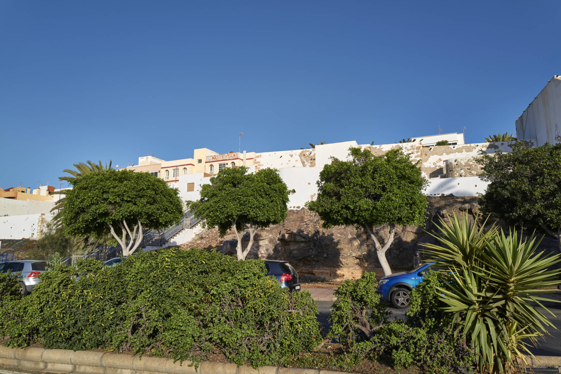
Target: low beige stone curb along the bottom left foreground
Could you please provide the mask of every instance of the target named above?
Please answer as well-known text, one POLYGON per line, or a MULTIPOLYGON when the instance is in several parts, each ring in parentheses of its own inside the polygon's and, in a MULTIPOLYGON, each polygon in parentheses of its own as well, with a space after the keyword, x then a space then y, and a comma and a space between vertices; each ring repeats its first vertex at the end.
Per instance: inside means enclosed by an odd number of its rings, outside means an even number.
MULTIPOLYGON (((229 362, 204 361, 188 366, 171 358, 90 350, 10 348, 0 346, 0 366, 67 374, 338 374, 340 372, 292 367, 237 366, 229 362)), ((341 373, 343 374, 343 373, 341 373)), ((349 374, 349 373, 344 373, 349 374)))

